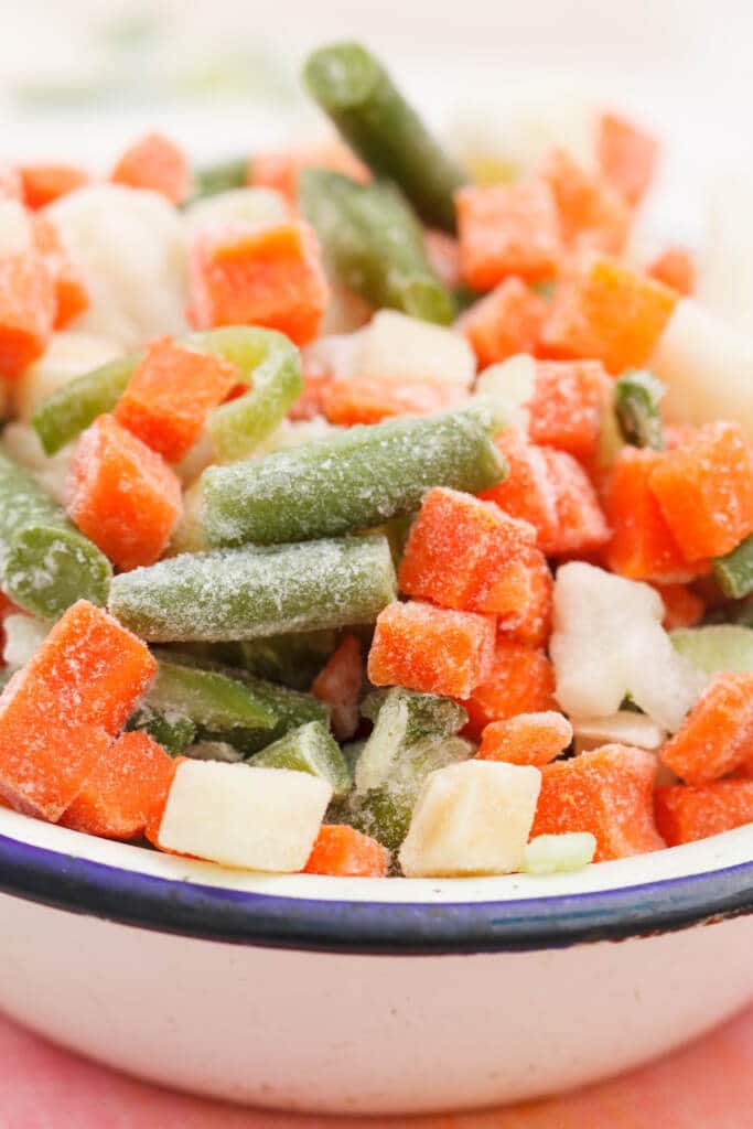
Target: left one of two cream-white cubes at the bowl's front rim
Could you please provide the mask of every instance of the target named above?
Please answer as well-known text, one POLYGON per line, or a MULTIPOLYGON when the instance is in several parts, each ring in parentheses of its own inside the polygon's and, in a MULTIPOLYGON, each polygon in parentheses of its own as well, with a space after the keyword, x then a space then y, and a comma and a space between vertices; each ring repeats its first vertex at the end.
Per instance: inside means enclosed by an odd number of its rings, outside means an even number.
POLYGON ((319 777, 221 761, 178 764, 159 844, 246 870, 295 873, 332 798, 319 777))

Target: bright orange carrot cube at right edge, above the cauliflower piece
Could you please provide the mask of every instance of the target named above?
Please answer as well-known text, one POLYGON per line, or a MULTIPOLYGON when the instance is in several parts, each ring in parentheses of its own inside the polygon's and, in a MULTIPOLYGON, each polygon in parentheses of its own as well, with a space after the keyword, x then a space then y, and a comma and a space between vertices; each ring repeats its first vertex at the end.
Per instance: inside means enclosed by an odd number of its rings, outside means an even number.
POLYGON ((707 423, 649 485, 688 560, 723 557, 753 531, 753 450, 738 423, 707 423))

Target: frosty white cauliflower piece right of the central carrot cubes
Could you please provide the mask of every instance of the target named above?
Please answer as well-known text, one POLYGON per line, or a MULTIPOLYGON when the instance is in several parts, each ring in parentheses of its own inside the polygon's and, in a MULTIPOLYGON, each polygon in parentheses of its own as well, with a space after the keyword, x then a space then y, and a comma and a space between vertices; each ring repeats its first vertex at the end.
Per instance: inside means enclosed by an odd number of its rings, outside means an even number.
POLYGON ((554 583, 550 651, 557 700, 573 717, 616 714, 625 694, 673 733, 701 690, 662 627, 664 604, 647 584, 572 561, 554 583))

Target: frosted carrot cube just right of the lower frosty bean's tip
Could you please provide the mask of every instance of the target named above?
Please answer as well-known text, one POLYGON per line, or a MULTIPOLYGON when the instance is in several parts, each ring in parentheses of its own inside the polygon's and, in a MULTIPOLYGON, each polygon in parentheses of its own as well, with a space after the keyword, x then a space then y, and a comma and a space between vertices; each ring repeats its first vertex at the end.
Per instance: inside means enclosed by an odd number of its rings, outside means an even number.
POLYGON ((376 686, 467 698, 487 676, 493 649, 491 615, 393 603, 377 618, 368 676, 376 686))

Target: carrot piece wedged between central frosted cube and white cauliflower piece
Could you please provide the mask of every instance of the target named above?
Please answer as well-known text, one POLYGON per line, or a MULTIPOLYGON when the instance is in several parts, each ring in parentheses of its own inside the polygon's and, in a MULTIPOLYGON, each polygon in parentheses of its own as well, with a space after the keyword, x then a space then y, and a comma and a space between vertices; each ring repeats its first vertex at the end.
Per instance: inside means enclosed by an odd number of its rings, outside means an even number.
POLYGON ((498 639, 490 672, 463 706, 469 715, 464 733, 471 737, 480 737, 492 721, 516 714, 555 710, 552 664, 543 650, 498 639))

